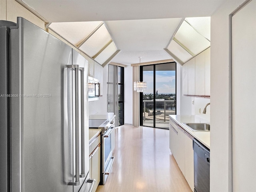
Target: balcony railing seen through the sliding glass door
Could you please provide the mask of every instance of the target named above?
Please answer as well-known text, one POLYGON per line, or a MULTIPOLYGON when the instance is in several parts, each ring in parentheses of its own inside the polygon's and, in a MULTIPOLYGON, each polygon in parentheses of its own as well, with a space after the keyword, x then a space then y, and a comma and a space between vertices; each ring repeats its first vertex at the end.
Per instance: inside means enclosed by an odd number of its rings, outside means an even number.
POLYGON ((166 116, 176 114, 175 100, 156 100, 156 110, 154 111, 154 101, 143 100, 143 120, 150 120, 155 115, 158 120, 166 121, 166 116), (151 117, 152 116, 152 117, 151 117))

